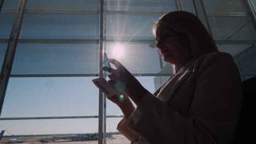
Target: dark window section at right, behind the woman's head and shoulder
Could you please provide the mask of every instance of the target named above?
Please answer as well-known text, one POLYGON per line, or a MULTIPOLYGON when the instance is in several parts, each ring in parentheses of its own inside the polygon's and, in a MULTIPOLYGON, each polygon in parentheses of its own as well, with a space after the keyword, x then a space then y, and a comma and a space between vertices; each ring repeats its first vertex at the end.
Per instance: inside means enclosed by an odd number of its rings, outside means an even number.
POLYGON ((233 56, 243 80, 247 75, 256 74, 256 23, 255 17, 249 15, 253 9, 249 9, 247 3, 242 0, 203 1, 219 50, 233 56))

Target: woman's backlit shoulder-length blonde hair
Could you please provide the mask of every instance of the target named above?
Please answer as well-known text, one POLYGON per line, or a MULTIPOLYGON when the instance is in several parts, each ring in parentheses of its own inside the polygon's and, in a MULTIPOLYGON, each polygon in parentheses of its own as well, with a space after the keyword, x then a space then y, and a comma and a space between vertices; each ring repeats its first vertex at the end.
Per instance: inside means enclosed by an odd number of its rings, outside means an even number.
POLYGON ((204 53, 218 51, 211 34, 192 13, 187 11, 171 11, 166 13, 153 26, 152 32, 155 37, 159 27, 165 31, 171 29, 187 35, 190 40, 189 51, 192 57, 200 57, 204 53))

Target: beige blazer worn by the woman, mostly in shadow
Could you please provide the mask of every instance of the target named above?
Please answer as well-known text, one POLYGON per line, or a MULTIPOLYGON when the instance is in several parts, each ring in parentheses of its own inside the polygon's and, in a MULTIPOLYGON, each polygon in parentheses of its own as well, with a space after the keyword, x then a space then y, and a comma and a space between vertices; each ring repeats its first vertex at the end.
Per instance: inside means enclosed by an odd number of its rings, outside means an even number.
POLYGON ((232 56, 207 53, 144 95, 117 129, 131 143, 228 144, 241 106, 242 82, 232 56))

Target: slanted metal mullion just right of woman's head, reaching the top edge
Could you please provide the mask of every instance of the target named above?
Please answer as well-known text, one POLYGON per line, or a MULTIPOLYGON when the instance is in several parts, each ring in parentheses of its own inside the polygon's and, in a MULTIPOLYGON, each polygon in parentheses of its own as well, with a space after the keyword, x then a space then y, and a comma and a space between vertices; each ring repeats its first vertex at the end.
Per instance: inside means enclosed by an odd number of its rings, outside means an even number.
POLYGON ((200 19, 200 21, 205 25, 208 32, 212 35, 211 27, 207 19, 205 6, 203 5, 202 0, 193 0, 194 8, 196 11, 197 17, 200 19))

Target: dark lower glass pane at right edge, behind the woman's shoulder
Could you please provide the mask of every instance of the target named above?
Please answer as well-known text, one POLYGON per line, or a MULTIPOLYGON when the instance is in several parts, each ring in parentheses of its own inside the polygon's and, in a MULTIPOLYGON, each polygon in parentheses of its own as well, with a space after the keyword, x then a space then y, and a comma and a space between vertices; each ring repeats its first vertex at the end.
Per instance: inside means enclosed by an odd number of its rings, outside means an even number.
POLYGON ((256 46, 252 45, 234 57, 241 75, 256 75, 256 46))

